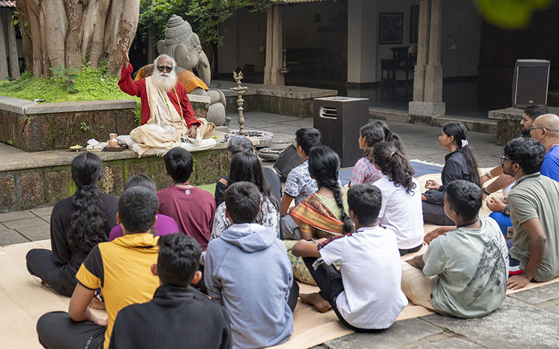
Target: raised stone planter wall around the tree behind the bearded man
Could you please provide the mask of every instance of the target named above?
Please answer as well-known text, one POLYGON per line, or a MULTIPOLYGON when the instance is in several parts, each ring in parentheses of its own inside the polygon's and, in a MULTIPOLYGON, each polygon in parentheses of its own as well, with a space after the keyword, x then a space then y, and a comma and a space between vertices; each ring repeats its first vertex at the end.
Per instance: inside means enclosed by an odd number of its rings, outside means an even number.
MULTIPOLYGON (((206 117, 210 98, 189 95, 194 115, 206 117)), ((0 142, 24 151, 68 149, 100 142, 109 133, 128 135, 138 126, 136 101, 118 99, 66 103, 36 103, 0 96, 0 142)))

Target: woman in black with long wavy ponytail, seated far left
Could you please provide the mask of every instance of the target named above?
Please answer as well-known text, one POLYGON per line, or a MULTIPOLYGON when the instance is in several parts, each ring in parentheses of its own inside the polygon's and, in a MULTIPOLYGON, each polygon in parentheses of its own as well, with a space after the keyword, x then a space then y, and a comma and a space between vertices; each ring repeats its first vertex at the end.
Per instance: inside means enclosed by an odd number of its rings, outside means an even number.
POLYGON ((33 249, 27 253, 27 270, 41 283, 61 295, 71 296, 75 273, 89 251, 108 241, 117 225, 118 197, 99 191, 103 164, 98 156, 84 152, 71 165, 72 179, 78 190, 70 198, 57 202, 50 216, 52 251, 33 249))

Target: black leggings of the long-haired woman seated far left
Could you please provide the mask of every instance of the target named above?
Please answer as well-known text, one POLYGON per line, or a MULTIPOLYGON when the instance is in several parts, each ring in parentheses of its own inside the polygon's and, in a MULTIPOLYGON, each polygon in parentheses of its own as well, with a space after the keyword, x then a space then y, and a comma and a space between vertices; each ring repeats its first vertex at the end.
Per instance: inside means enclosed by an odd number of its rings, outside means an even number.
POLYGON ((61 265, 52 260, 52 252, 35 248, 27 253, 27 270, 31 275, 41 278, 47 285, 63 296, 71 297, 75 288, 75 280, 68 280, 62 273, 61 265))

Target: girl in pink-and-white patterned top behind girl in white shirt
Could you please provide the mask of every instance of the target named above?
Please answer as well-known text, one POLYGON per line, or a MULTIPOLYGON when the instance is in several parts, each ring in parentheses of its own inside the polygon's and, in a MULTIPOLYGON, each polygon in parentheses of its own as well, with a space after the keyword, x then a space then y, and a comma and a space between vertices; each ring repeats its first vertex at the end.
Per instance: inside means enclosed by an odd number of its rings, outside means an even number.
POLYGON ((363 149, 363 158, 360 158, 351 170, 349 186, 363 183, 373 184, 382 177, 382 172, 375 168, 375 161, 372 158, 372 147, 377 142, 391 142, 404 153, 402 140, 390 131, 389 126, 384 121, 375 121, 362 126, 359 130, 358 142, 359 149, 363 149))

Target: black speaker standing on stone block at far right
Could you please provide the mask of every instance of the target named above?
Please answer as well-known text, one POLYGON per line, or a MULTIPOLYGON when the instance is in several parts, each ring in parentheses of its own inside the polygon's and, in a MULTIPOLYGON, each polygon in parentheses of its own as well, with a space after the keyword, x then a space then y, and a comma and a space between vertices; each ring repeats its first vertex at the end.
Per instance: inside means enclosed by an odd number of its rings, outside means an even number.
POLYGON ((547 104, 550 61, 546 59, 518 59, 512 80, 512 106, 528 107, 547 104))

